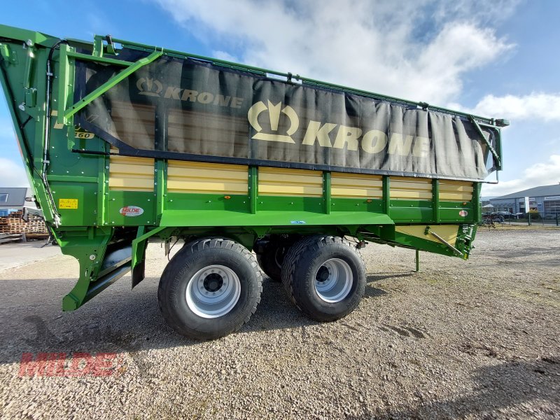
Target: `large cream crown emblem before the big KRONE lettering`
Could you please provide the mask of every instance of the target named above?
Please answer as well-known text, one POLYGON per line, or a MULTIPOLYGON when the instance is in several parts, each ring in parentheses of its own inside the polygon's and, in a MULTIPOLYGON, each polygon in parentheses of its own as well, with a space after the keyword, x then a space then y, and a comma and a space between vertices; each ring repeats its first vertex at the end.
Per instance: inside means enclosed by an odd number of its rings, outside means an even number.
POLYGON ((281 141, 283 143, 293 143, 295 141, 292 139, 292 134, 297 131, 297 127, 300 125, 300 118, 297 117, 297 113, 293 110, 291 106, 284 106, 282 108, 282 103, 279 102, 278 104, 274 105, 272 102, 268 101, 268 106, 265 105, 264 102, 259 101, 256 104, 253 104, 247 113, 247 118, 249 120, 249 124, 253 127, 256 131, 256 134, 253 136, 253 139, 256 140, 266 140, 266 141, 281 141), (290 119, 290 127, 286 130, 286 134, 273 134, 273 133, 263 133, 262 127, 258 123, 258 116, 263 111, 268 110, 268 116, 270 119, 270 129, 273 132, 278 131, 278 123, 280 120, 280 113, 285 114, 290 119))

